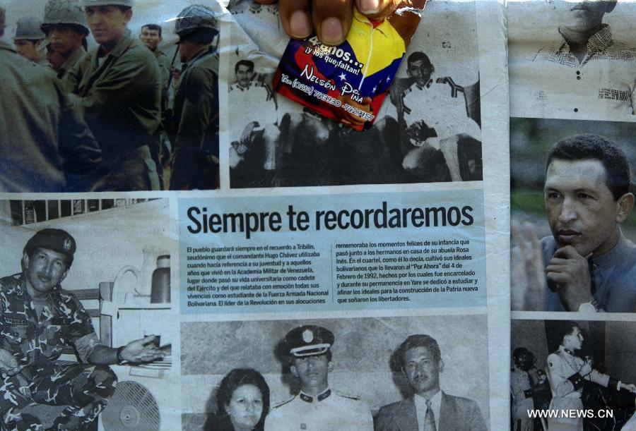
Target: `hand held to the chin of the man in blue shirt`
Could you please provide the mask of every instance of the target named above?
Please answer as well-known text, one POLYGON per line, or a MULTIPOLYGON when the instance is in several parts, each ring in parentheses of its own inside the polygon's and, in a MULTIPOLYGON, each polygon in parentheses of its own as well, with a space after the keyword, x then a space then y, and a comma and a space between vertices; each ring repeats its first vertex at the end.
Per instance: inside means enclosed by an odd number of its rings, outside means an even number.
POLYGON ((568 311, 578 311, 582 303, 594 301, 590 291, 588 257, 579 255, 572 245, 565 245, 554 252, 546 267, 548 282, 555 284, 561 302, 568 311))

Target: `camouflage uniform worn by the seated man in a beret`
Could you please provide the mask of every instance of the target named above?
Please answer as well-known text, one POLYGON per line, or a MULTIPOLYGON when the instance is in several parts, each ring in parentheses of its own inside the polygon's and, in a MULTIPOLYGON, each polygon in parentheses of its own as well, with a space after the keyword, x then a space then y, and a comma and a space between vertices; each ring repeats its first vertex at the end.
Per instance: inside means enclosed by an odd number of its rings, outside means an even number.
POLYGON ((58 361, 73 346, 86 361, 100 344, 88 313, 59 286, 38 317, 22 276, 0 279, 0 348, 25 368, 0 387, 0 425, 7 430, 41 430, 40 419, 21 413, 25 406, 66 406, 54 429, 77 430, 92 423, 114 392, 117 377, 107 365, 58 361))

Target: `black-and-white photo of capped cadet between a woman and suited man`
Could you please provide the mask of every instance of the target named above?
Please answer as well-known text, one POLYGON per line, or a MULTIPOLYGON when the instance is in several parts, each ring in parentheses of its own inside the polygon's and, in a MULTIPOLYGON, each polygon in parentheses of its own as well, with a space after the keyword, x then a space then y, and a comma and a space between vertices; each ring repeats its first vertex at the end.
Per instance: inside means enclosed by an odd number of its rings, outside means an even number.
MULTIPOLYGON (((218 389, 223 377, 236 369, 255 370, 269 387, 265 430, 377 429, 382 406, 399 399, 404 401, 395 404, 411 402, 413 386, 406 370, 395 368, 394 351, 401 340, 424 330, 440 340, 437 347, 445 365, 435 363, 437 374, 432 369, 428 374, 432 361, 421 360, 410 375, 418 387, 439 385, 433 398, 437 430, 468 429, 461 424, 471 423, 482 429, 488 423, 488 386, 483 384, 488 378, 488 343, 486 320, 478 315, 184 322, 181 379, 189 410, 184 408, 183 429, 200 430, 209 418, 223 415, 218 389)), ((407 350, 428 353, 413 347, 407 350)), ((420 428, 416 423, 415 428, 382 429, 420 428)))

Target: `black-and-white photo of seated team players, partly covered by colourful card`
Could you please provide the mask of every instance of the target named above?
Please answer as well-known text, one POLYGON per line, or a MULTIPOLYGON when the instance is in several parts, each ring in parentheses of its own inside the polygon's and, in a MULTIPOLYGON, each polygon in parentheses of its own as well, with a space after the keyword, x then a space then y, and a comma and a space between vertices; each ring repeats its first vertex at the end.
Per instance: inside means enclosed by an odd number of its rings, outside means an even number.
MULTIPOLYGON (((259 8, 252 1, 237 3, 237 8, 242 8, 242 13, 236 15, 237 20, 247 15, 246 8, 250 4, 259 8)), ((232 5, 230 10, 233 10, 232 5)), ((253 19, 259 20, 258 15, 255 14, 253 19)), ((463 31, 416 33, 411 51, 405 56, 401 72, 391 87, 391 100, 389 97, 385 99, 373 128, 363 133, 351 133, 348 128, 325 121, 300 105, 290 106, 288 100, 278 97, 276 128, 270 123, 264 126, 254 121, 240 130, 230 126, 230 186, 481 181, 481 119, 478 70, 474 68, 477 64, 474 56, 474 8, 471 4, 431 4, 423 16, 423 20, 427 19, 457 24, 463 31), (425 54, 425 51, 430 54, 425 54), (433 58, 435 61, 431 60, 433 58), (407 63, 411 64, 411 68, 407 63), (248 166, 253 167, 247 169, 248 166), (245 174, 238 174, 241 169, 245 174), (251 179, 249 172, 252 172, 251 179)), ((249 38, 252 33, 257 35, 255 29, 259 28, 258 25, 257 22, 246 28, 245 37, 249 38)), ((288 36, 282 29, 278 32, 281 33, 279 45, 284 47, 288 36)), ((258 47, 261 42, 252 41, 258 47)), ((249 45, 242 40, 235 43, 249 45)), ((243 45, 237 49, 249 53, 243 45)), ((257 70, 270 70, 270 59, 272 56, 276 58, 272 52, 266 51, 269 56, 254 57, 257 70)), ((273 67, 276 67, 274 64, 273 67)), ((238 67, 238 63, 235 65, 238 67)), ((230 92, 230 109, 233 92, 230 92)), ((256 116, 264 115, 254 109, 257 105, 262 103, 252 102, 248 106, 251 108, 249 112, 256 116)), ((247 112, 232 115, 230 125, 238 121, 237 117, 249 119, 247 112)))

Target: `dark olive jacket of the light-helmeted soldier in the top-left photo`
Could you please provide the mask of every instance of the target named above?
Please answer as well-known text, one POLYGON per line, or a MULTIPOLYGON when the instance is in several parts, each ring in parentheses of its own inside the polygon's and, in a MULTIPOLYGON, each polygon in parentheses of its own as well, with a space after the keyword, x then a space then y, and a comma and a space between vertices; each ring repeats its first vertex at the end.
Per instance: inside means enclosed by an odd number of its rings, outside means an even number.
POLYGON ((157 60, 126 30, 107 55, 97 47, 69 75, 86 123, 107 159, 151 142, 161 121, 157 60))

